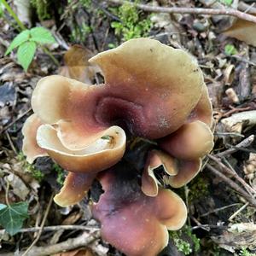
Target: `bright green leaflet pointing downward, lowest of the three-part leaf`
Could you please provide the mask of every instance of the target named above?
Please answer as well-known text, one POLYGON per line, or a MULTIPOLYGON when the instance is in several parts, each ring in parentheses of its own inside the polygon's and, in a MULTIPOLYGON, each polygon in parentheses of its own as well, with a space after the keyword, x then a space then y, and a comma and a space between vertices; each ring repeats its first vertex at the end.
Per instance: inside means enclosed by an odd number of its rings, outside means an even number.
POLYGON ((35 42, 29 41, 21 44, 18 48, 18 62, 27 71, 35 52, 37 49, 37 44, 35 42))

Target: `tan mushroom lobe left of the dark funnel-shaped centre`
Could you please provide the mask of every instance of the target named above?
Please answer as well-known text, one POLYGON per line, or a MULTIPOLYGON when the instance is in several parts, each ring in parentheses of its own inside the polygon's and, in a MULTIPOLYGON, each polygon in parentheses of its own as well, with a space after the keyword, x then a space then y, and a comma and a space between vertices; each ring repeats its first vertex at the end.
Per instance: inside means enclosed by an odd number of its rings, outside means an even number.
POLYGON ((95 119, 101 86, 53 75, 40 79, 32 94, 32 108, 44 124, 57 125, 61 143, 78 150, 105 135, 109 125, 95 119), (97 87, 97 90, 96 90, 97 87))

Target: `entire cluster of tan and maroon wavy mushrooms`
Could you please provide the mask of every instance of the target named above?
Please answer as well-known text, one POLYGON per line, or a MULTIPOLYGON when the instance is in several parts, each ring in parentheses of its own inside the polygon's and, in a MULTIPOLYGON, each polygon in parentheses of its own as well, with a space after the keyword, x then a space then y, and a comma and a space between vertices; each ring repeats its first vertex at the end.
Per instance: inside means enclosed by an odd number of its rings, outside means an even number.
POLYGON ((148 38, 127 41, 90 63, 101 67, 105 84, 58 75, 38 82, 23 151, 29 162, 49 155, 68 171, 55 195, 62 207, 83 199, 97 179, 104 192, 92 212, 103 239, 126 255, 156 255, 187 211, 155 172, 161 166, 173 188, 199 172, 213 147, 207 86, 191 55, 148 38), (131 136, 154 141, 143 170, 120 162, 131 136))

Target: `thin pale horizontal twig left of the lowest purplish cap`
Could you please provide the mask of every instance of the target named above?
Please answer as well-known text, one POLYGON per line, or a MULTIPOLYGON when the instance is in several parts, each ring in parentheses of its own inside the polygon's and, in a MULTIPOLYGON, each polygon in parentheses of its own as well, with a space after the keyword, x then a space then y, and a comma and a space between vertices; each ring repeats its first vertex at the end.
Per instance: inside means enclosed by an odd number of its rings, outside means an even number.
MULTIPOLYGON (((18 233, 30 233, 38 232, 41 227, 32 227, 27 229, 21 229, 18 233)), ((98 231, 99 228, 83 226, 83 225, 58 225, 58 226, 47 226, 43 227, 43 231, 56 231, 56 230, 86 230, 86 231, 98 231)), ((0 235, 3 235, 5 230, 0 230, 0 235)))

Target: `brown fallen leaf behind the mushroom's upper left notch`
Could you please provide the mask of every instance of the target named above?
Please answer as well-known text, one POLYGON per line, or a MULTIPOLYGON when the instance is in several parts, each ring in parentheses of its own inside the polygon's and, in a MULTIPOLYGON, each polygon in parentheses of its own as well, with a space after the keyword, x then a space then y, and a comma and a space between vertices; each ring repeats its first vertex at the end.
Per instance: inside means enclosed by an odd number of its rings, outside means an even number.
POLYGON ((65 66, 61 67, 60 74, 85 84, 93 84, 95 74, 101 70, 88 62, 92 56, 93 53, 89 49, 79 44, 73 45, 64 55, 65 66))

